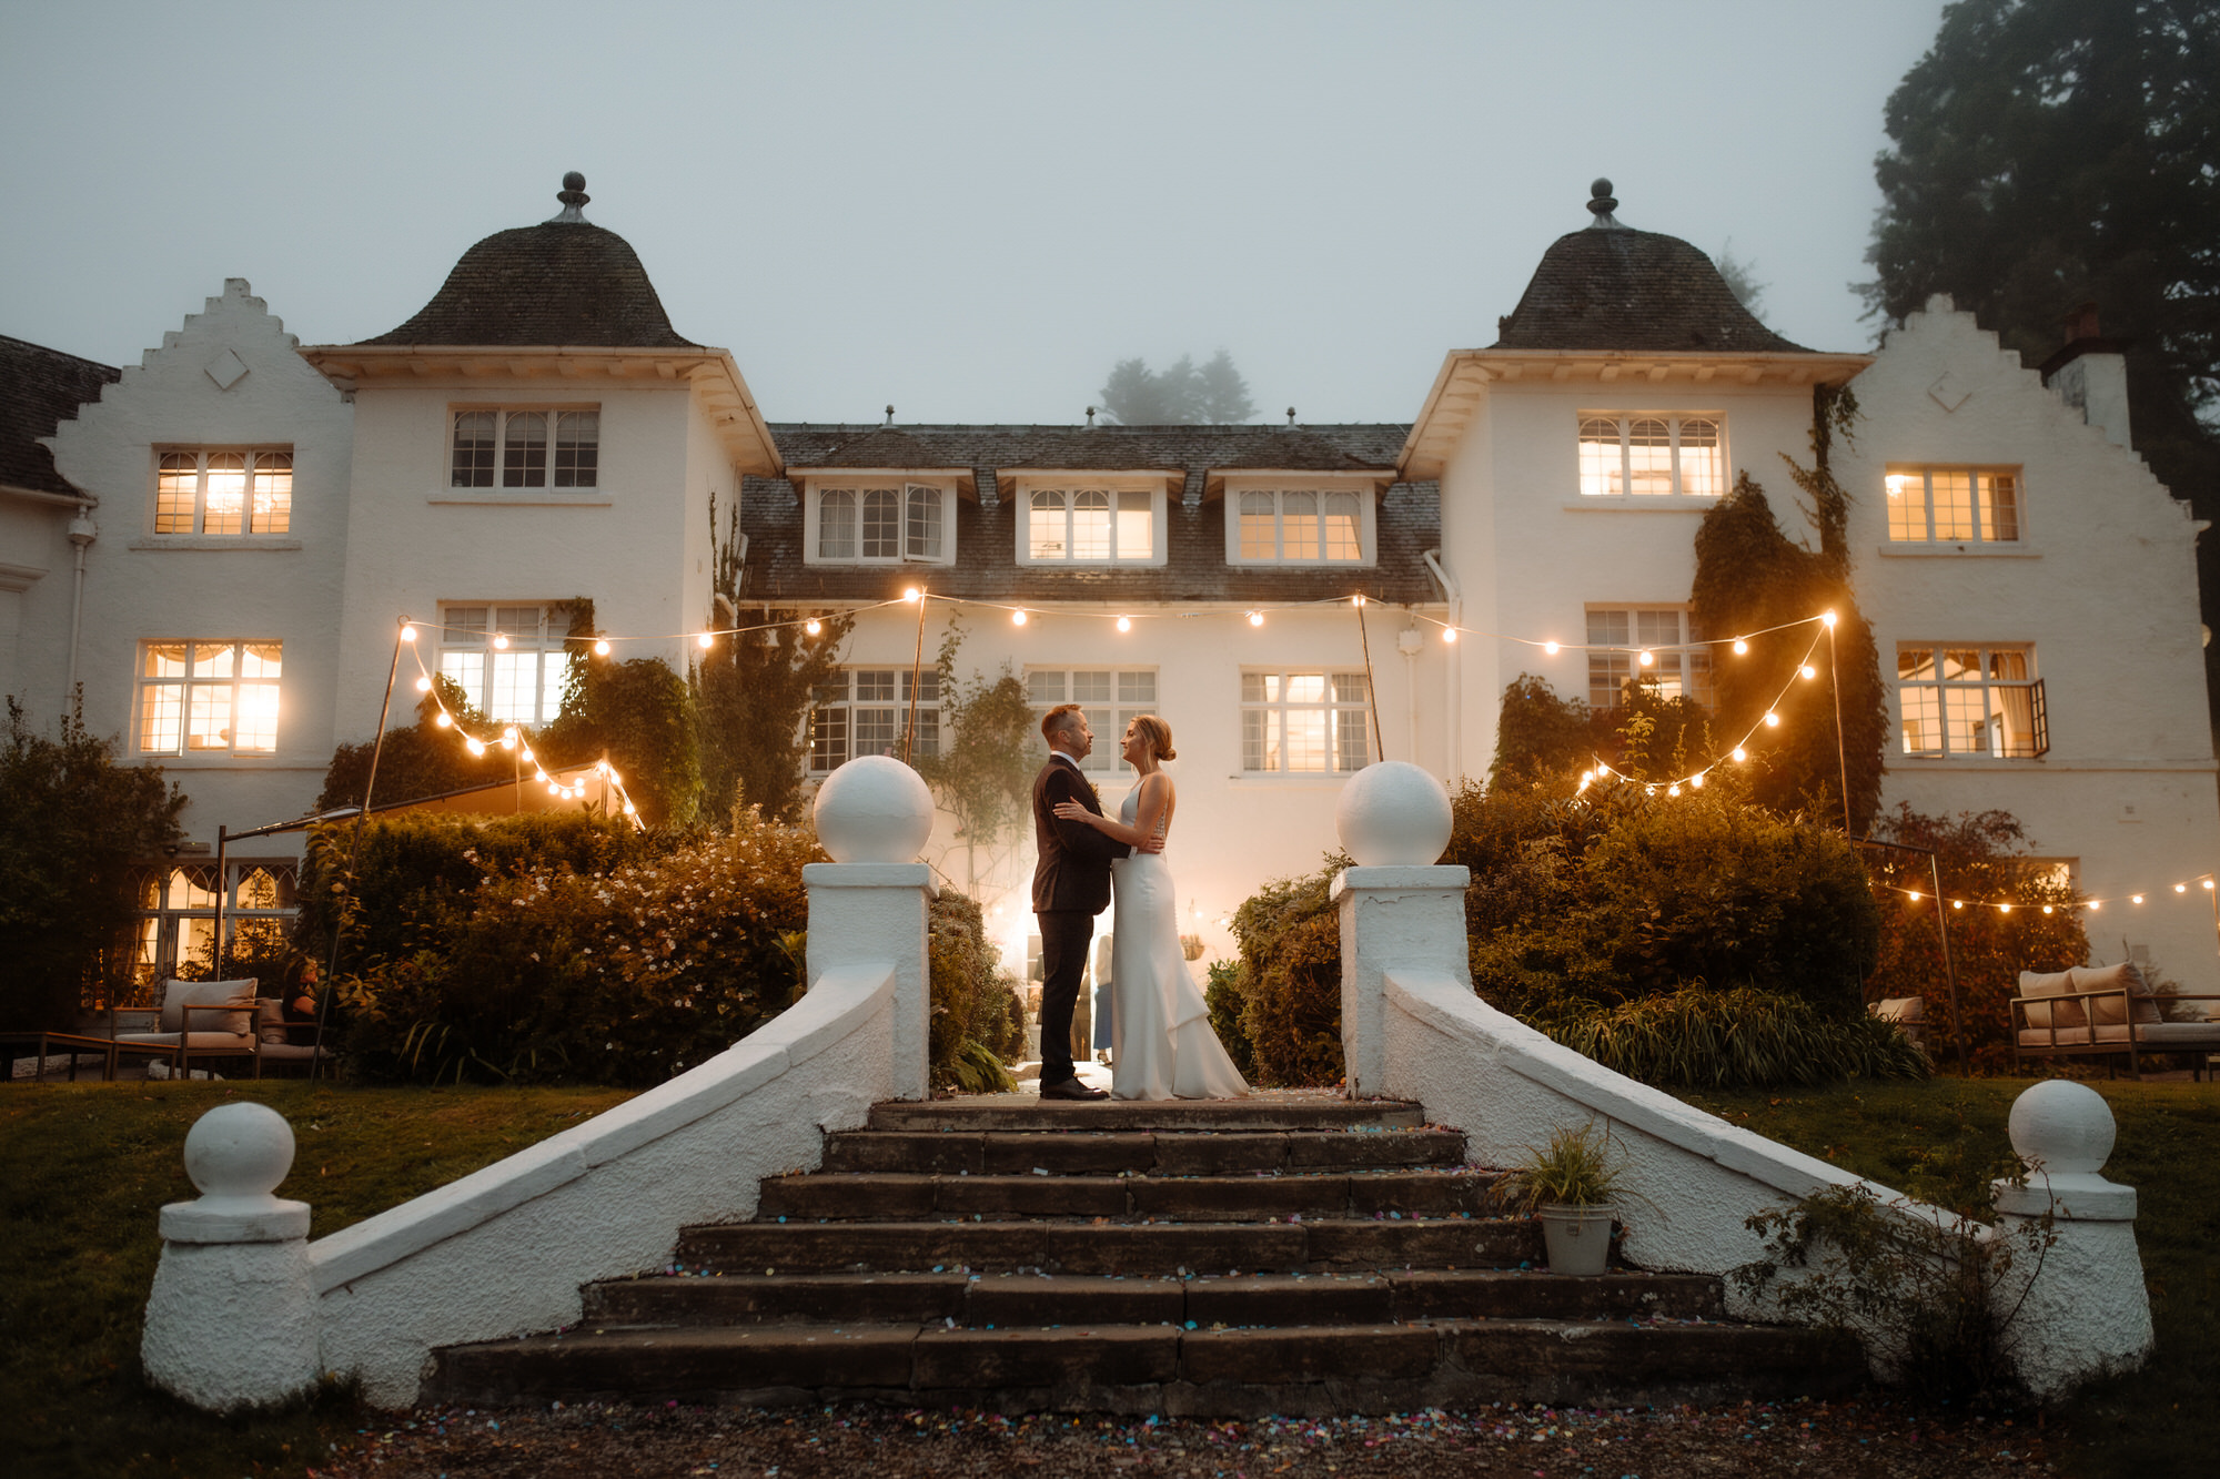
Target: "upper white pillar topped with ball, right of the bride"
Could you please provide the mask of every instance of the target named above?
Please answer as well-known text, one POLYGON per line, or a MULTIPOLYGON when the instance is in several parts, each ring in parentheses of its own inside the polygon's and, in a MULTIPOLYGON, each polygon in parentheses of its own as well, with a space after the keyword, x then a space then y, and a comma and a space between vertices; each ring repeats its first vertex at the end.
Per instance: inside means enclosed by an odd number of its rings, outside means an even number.
POLYGON ((1450 844, 1450 793, 1401 759, 1365 766, 1341 788, 1334 831, 1356 859, 1334 879, 1341 910, 1341 1055, 1352 1099, 1388 1088, 1388 990, 1396 966, 1472 982, 1465 955, 1470 868, 1436 866, 1450 844))

